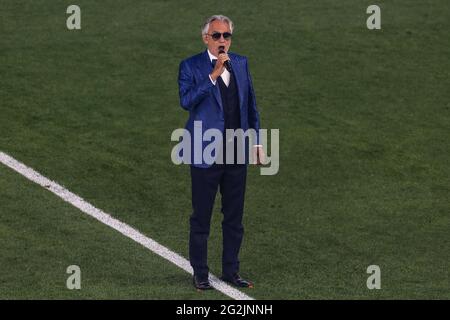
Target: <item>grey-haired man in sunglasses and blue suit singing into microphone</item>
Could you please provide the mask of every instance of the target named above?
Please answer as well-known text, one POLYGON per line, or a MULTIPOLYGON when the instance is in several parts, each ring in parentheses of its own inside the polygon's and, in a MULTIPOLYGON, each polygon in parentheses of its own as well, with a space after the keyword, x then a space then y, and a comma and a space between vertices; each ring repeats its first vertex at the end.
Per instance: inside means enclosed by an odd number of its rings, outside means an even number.
MULTIPOLYGON (((258 133, 260 122, 247 58, 228 52, 232 32, 233 22, 228 17, 214 15, 208 18, 202 27, 207 50, 182 61, 178 77, 180 104, 189 111, 186 129, 192 139, 199 127, 222 133, 222 147, 215 154, 214 163, 203 161, 204 142, 200 150, 194 148, 190 162, 193 212, 190 218, 189 259, 194 270, 194 286, 200 290, 212 288, 208 280, 207 241, 219 188, 223 213, 221 279, 238 287, 253 287, 252 282, 240 277, 238 258, 244 233, 242 216, 248 153, 244 152, 245 160, 239 161, 237 154, 242 154, 242 150, 235 143, 225 142, 225 131, 253 129, 258 133), (234 150, 227 146, 232 146, 234 150), (234 154, 232 163, 226 161, 227 152, 234 154), (223 153, 222 156, 220 153, 223 153)), ((233 139, 237 142, 236 138, 233 139)), ((244 142, 244 149, 247 150, 245 143, 248 142, 244 142)), ((259 156, 256 159, 262 159, 262 146, 256 142, 253 150, 259 156)), ((260 164, 259 161, 256 163, 260 164)))

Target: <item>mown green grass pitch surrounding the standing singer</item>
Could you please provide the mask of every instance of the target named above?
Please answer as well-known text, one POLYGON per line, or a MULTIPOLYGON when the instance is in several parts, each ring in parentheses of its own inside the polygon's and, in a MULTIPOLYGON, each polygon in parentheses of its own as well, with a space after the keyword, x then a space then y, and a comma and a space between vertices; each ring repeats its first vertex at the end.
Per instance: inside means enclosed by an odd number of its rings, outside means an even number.
MULTIPOLYGON (((262 127, 280 129, 279 173, 249 170, 244 292, 448 299, 448 0, 3 0, 0 151, 187 257, 189 170, 170 161, 187 119, 177 73, 217 13, 236 24, 262 127), (66 28, 70 4, 81 30, 66 28), (366 28, 371 4, 381 30, 366 28)), ((3 165, 0 298, 227 299, 3 165), (73 264, 81 290, 65 286, 73 264)))

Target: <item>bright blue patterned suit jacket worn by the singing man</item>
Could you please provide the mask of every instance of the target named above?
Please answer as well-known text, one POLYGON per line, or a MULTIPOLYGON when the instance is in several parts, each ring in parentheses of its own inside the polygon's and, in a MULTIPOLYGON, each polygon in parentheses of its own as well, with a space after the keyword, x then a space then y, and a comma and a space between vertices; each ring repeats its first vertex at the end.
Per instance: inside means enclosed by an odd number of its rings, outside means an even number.
MULTIPOLYGON (((259 113, 256 106, 255 93, 248 70, 247 58, 234 53, 228 53, 239 96, 241 128, 249 128, 259 133, 259 113)), ((202 121, 203 133, 211 128, 224 133, 224 111, 219 85, 214 85, 209 78, 213 70, 207 50, 192 56, 180 63, 178 85, 181 107, 189 111, 186 129, 191 134, 191 146, 194 146, 194 121, 202 121)), ((198 129, 198 128, 197 128, 198 129)), ((201 152, 210 142, 203 142, 201 152)), ((246 147, 246 150, 247 147, 246 147)), ((210 164, 194 163, 194 147, 191 152, 191 164, 207 168, 210 164)), ((246 156, 248 162, 248 156, 246 156)))

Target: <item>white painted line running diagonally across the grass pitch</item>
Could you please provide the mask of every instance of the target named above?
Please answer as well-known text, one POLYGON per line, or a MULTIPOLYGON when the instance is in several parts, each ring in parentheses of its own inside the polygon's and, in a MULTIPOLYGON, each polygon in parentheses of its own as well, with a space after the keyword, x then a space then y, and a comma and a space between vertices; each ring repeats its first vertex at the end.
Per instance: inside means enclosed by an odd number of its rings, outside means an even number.
MULTIPOLYGON (((126 223, 123 223, 123 222, 113 218, 111 215, 94 207, 93 205, 86 202, 81 197, 77 196, 76 194, 65 189, 58 183, 47 179, 46 177, 39 174, 32 168, 27 167, 23 163, 17 161, 13 157, 11 157, 1 151, 0 151, 0 162, 3 163, 4 165, 6 165, 7 167, 13 169, 14 171, 17 171, 18 173, 20 173, 22 176, 24 176, 28 180, 31 180, 34 183, 37 183, 38 185, 40 185, 41 187, 44 187, 45 189, 53 192, 54 194, 56 194, 58 197, 60 197, 64 201, 70 203, 71 205, 80 209, 84 213, 97 219, 101 223, 106 224, 107 226, 113 228, 114 230, 119 231, 124 236, 126 236, 130 239, 133 239, 137 243, 140 243, 147 249, 149 249, 152 252, 156 253, 157 255, 163 257, 164 259, 172 262, 173 264, 180 267, 184 271, 186 271, 190 274, 193 273, 192 267, 189 264, 189 261, 186 260, 185 258, 183 258, 182 256, 180 256, 179 254, 164 247, 163 245, 159 244, 158 242, 154 241, 153 239, 143 235, 138 230, 127 225, 126 223)), ((236 300, 253 300, 252 297, 229 286, 228 284, 221 281, 219 278, 217 278, 213 274, 210 273, 209 276, 210 276, 211 285, 214 286, 220 292, 226 294, 227 296, 229 296, 233 299, 236 299, 236 300)))

